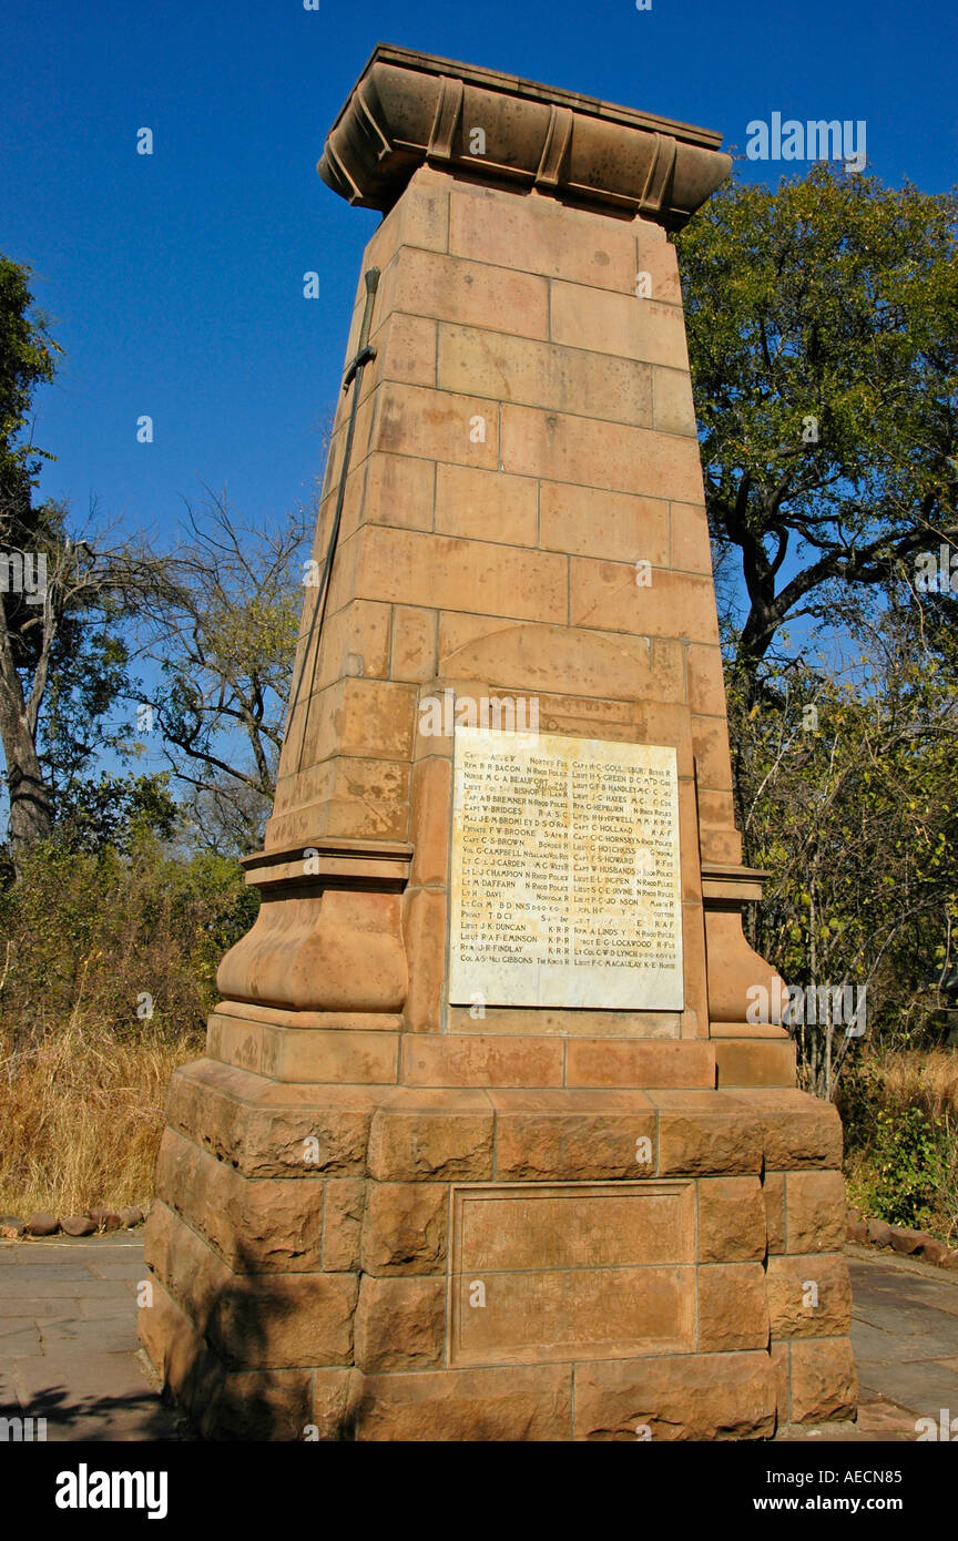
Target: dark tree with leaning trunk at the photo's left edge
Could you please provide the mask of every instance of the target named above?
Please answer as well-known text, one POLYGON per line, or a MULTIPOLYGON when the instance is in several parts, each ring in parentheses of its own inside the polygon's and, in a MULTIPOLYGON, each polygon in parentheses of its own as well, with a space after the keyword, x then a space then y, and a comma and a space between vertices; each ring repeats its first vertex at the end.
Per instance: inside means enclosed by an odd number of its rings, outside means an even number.
POLYGON ((131 820, 166 829, 173 818, 162 777, 91 781, 103 750, 123 754, 126 735, 108 726, 131 689, 123 627, 162 567, 109 532, 71 535, 62 504, 34 502, 51 456, 32 444, 32 394, 62 350, 31 310, 28 279, 0 257, 0 743, 15 868, 57 826, 75 846, 116 838, 131 820))

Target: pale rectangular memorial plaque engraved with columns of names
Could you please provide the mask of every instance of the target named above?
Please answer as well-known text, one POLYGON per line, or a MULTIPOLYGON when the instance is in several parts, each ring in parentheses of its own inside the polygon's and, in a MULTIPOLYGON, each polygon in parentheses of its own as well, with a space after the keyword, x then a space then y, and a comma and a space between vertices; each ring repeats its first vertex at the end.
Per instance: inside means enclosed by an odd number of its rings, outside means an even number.
POLYGON ((456 727, 450 1002, 681 1011, 676 752, 456 727))

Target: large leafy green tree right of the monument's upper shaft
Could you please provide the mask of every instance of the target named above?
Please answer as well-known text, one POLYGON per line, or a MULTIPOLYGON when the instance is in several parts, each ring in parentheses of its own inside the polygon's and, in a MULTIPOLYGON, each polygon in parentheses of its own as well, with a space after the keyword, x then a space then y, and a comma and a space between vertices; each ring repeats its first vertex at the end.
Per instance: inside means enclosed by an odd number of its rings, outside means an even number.
POLYGON ((819 163, 778 191, 729 183, 676 237, 750 701, 782 626, 833 626, 958 547, 956 217, 955 194, 819 163))

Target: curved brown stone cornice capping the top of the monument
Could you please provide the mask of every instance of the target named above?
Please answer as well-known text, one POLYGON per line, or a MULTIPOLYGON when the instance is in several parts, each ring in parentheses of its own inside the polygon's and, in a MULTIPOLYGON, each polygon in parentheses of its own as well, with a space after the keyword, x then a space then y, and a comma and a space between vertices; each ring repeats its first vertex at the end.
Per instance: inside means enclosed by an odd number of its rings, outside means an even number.
POLYGON ((384 213, 433 165, 678 230, 727 177, 719 146, 710 129, 379 43, 317 170, 350 203, 384 213))

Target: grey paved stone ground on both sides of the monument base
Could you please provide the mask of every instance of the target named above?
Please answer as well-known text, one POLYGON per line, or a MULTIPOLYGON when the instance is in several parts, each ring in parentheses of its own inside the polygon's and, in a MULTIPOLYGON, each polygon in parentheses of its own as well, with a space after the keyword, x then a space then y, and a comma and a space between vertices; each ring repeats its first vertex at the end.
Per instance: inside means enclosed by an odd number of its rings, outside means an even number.
MULTIPOLYGON (((958 1279, 849 1247, 858 1427, 790 1441, 915 1439, 916 1418, 958 1416, 958 1279)), ((0 1416, 46 1418, 48 1439, 189 1439, 163 1407, 136 1338, 142 1233, 0 1242, 0 1416)))

